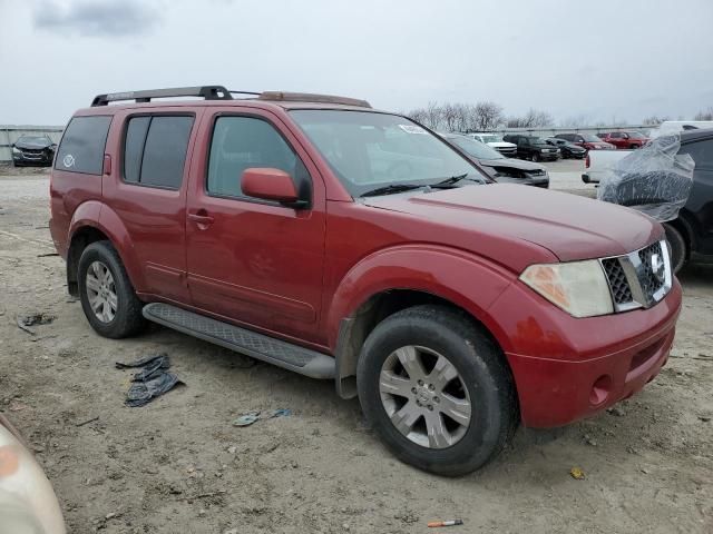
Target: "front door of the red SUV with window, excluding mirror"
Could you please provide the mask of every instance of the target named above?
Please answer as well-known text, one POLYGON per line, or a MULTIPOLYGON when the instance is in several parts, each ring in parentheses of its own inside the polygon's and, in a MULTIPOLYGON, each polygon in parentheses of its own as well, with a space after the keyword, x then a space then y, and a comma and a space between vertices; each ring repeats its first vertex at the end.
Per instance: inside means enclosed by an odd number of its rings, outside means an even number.
POLYGON ((194 306, 247 326, 322 343, 318 333, 325 234, 316 167, 272 113, 206 113, 187 202, 188 286, 194 306), (305 166, 306 162, 306 166, 305 166), (310 184, 295 209, 243 195, 247 168, 270 167, 310 184))

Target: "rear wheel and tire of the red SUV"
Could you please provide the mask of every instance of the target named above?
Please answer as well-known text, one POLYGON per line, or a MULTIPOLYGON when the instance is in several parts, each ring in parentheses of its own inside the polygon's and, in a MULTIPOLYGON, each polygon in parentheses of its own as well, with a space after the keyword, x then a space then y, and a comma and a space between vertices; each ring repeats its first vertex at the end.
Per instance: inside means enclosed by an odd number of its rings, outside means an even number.
POLYGON ((81 308, 97 334, 119 339, 144 328, 146 320, 141 315, 141 301, 134 291, 119 254, 109 241, 96 241, 85 248, 77 270, 81 308), (102 277, 106 271, 110 278, 102 277), (97 306, 96 312, 92 303, 97 306))

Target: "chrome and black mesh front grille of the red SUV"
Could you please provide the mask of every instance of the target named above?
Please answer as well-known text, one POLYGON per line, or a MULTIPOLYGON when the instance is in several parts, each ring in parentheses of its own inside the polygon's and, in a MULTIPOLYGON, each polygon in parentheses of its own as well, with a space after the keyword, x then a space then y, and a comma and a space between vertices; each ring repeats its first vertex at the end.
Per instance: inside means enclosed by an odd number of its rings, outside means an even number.
POLYGON ((616 312, 649 308, 673 285, 666 241, 657 241, 624 256, 600 260, 616 312))

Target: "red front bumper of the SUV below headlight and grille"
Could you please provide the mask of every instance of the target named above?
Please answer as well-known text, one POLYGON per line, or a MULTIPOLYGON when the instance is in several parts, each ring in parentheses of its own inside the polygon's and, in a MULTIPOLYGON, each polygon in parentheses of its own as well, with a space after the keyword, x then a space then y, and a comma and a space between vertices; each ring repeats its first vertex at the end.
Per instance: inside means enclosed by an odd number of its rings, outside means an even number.
POLYGON ((648 309, 577 319, 522 284, 510 286, 491 313, 508 317, 512 333, 505 352, 522 424, 566 425, 641 390, 668 358, 681 300, 674 281, 648 309))

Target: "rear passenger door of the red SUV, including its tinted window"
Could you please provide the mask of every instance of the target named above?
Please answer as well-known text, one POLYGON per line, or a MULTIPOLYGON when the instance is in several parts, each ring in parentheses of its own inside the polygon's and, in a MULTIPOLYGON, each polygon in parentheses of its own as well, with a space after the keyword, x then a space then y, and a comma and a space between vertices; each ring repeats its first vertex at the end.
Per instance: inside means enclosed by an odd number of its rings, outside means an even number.
POLYGON ((125 111, 115 120, 121 120, 113 151, 118 172, 105 176, 104 197, 139 261, 145 287, 137 289, 187 304, 186 155, 198 117, 185 108, 162 108, 125 111))

